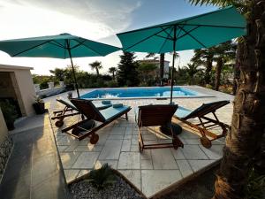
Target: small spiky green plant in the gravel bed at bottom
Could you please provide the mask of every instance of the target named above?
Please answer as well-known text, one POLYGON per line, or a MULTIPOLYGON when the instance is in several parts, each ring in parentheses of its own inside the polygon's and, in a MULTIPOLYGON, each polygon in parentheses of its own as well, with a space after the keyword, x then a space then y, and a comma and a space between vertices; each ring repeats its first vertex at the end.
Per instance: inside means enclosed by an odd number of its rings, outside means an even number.
POLYGON ((100 169, 93 169, 87 178, 97 190, 102 190, 117 181, 117 177, 112 171, 110 165, 104 164, 100 169))

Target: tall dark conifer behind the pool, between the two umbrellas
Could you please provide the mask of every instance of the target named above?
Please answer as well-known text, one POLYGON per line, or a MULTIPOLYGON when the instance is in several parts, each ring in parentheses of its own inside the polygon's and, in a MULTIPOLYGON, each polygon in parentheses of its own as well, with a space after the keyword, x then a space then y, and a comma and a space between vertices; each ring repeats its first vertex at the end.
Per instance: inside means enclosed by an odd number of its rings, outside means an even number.
POLYGON ((134 54, 125 52, 120 56, 121 60, 117 68, 117 82, 120 87, 135 87, 139 85, 139 73, 137 71, 138 64, 133 59, 134 54))

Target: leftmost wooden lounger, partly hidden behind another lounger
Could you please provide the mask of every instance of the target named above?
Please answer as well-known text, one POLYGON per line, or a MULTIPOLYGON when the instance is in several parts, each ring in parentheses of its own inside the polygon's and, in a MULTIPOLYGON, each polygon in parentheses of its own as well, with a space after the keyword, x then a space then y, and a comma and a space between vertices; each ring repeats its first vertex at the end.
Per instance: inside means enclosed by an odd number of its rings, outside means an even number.
MULTIPOLYGON (((57 99, 57 102, 64 104, 63 110, 53 111, 54 117, 52 117, 51 119, 57 119, 57 121, 55 123, 55 125, 57 127, 61 127, 64 125, 64 118, 80 114, 78 109, 75 107, 75 105, 73 105, 71 103, 70 100, 68 100, 66 98, 59 98, 59 99, 57 99), (71 113, 69 113, 69 112, 71 112, 71 113)), ((102 102, 94 103, 95 107, 98 110, 103 110, 103 109, 109 108, 112 105, 111 103, 102 103, 102 102)))

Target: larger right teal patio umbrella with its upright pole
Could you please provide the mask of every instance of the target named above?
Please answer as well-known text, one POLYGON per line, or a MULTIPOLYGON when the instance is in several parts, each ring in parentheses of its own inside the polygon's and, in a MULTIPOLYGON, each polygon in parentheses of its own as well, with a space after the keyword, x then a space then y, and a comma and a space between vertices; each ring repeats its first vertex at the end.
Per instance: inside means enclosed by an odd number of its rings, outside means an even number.
POLYGON ((206 49, 246 34, 246 19, 233 6, 194 17, 117 34, 123 50, 173 53, 170 103, 176 51, 206 49))

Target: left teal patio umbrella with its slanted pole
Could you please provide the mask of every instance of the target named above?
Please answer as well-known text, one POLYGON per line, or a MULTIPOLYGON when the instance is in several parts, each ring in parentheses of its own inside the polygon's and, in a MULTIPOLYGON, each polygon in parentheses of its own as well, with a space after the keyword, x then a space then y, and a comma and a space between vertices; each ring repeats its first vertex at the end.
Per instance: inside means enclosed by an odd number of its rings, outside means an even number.
POLYGON ((79 97, 79 87, 72 64, 72 57, 106 56, 120 49, 72 34, 57 34, 0 41, 0 50, 8 53, 11 57, 70 58, 73 79, 79 97))

